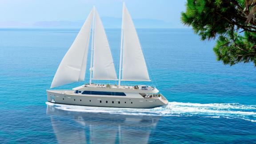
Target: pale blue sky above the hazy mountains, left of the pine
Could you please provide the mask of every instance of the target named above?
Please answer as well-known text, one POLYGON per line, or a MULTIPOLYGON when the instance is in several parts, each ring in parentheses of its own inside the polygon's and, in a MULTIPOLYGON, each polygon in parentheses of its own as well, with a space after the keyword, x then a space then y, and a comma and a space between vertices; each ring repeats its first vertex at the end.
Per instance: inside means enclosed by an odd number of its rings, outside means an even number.
POLYGON ((121 18, 123 1, 134 20, 158 20, 170 27, 184 27, 180 12, 185 10, 186 0, 0 0, 0 27, 84 21, 93 6, 100 17, 121 18))

